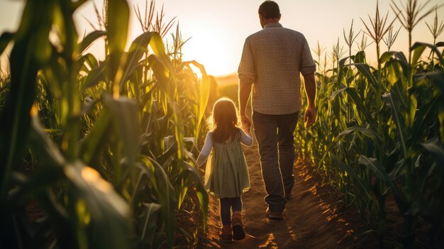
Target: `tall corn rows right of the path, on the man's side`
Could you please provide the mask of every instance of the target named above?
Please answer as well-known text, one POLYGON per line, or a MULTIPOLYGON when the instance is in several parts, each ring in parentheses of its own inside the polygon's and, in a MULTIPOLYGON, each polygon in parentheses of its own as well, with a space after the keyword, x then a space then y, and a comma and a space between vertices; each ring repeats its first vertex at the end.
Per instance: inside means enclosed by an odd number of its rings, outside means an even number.
POLYGON ((338 40, 329 55, 319 44, 313 50, 318 121, 309 131, 299 123, 296 150, 343 193, 346 206, 357 208, 381 246, 387 245, 389 200, 404 220, 402 241, 389 247, 411 248, 420 223, 428 227, 429 247, 444 245, 444 43, 436 41, 443 23, 437 16, 427 23, 433 43, 411 42, 414 26, 437 15, 438 7, 392 1, 392 21, 379 15, 377 5, 374 18, 361 19, 359 52, 351 52, 359 34, 353 21, 348 35, 343 33, 348 48, 338 40), (390 51, 399 32, 396 21, 409 33, 407 55, 390 51), (367 63, 365 37, 376 48, 377 65, 367 63))

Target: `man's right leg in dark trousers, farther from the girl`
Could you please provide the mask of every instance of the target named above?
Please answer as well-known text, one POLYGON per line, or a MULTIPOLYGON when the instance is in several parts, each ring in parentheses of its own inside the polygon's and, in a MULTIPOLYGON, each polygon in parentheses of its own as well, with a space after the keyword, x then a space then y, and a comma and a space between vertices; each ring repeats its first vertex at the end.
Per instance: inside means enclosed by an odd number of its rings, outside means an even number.
POLYGON ((279 115, 277 118, 277 136, 279 140, 279 167, 282 173, 285 196, 289 197, 294 185, 294 128, 299 112, 279 115))

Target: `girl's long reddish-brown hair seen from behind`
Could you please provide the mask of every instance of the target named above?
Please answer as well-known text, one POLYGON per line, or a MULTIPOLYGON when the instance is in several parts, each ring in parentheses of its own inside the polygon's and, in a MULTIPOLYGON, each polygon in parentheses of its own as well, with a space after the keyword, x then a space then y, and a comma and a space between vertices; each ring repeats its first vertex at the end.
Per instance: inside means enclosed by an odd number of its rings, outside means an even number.
POLYGON ((238 111, 231 99, 223 97, 213 106, 213 140, 223 143, 240 138, 238 111))

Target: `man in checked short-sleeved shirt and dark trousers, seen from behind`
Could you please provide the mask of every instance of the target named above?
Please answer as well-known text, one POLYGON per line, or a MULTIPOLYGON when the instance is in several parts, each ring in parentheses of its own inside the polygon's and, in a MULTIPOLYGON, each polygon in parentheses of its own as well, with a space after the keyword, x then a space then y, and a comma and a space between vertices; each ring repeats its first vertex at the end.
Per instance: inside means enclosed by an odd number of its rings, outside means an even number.
POLYGON ((243 126, 250 125, 245 108, 252 91, 252 123, 259 145, 269 218, 281 219, 294 185, 294 128, 301 109, 301 79, 309 106, 306 127, 316 121, 316 65, 299 32, 283 28, 274 1, 259 7, 262 31, 245 40, 239 74, 239 109, 243 126))

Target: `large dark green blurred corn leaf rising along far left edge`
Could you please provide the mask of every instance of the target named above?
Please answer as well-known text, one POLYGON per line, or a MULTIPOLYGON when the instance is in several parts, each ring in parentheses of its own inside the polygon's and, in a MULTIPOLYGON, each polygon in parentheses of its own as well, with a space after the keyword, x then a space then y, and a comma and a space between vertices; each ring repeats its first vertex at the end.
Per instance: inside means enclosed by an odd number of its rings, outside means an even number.
POLYGON ((0 199, 6 197, 13 165, 26 153, 30 110, 35 99, 35 77, 48 59, 48 35, 55 4, 27 1, 11 51, 11 89, 0 114, 0 199), (39 27, 35 29, 34 27, 39 27))

